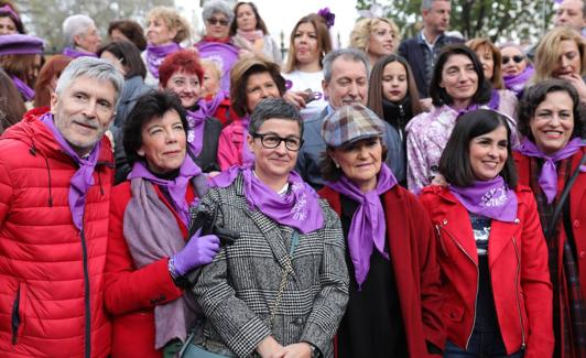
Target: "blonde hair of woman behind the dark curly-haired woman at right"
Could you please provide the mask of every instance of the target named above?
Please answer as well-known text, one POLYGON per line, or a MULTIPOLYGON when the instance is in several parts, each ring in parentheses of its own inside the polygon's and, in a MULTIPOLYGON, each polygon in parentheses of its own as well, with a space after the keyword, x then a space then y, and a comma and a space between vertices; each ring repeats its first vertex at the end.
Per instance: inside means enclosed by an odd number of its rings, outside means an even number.
POLYGON ((558 66, 562 52, 561 43, 566 40, 574 41, 578 46, 580 55, 579 74, 583 77, 586 75, 586 42, 576 31, 560 26, 551 30, 541 39, 535 51, 535 73, 531 78, 531 84, 554 78, 553 72, 558 66))

